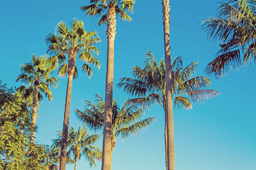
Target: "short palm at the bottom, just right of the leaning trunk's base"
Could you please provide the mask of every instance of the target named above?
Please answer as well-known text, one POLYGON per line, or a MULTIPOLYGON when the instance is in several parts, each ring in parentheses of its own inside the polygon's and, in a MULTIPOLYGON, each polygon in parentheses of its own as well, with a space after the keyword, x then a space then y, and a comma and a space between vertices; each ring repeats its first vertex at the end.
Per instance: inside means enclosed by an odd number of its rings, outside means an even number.
MULTIPOLYGON (((54 139, 54 146, 57 148, 61 146, 62 133, 58 132, 58 139, 54 139)), ((98 146, 93 146, 94 143, 100 138, 99 134, 90 135, 87 131, 86 126, 79 127, 78 131, 75 131, 73 127, 70 127, 68 131, 68 157, 70 159, 71 155, 74 156, 75 170, 77 165, 77 160, 81 159, 84 155, 86 159, 90 162, 90 166, 96 166, 95 159, 101 160, 102 152, 98 146)))

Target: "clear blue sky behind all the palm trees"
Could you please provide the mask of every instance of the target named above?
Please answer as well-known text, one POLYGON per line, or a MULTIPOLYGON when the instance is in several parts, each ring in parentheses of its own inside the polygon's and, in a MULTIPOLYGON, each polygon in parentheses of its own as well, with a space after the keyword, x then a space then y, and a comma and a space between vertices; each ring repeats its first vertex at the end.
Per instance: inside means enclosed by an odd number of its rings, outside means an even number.
MULTIPOLYGON (((184 66, 198 60, 198 72, 204 68, 218 51, 218 41, 207 39, 200 22, 214 16, 220 0, 171 0, 171 50, 182 56, 184 66)), ((98 17, 87 17, 81 6, 88 0, 1 0, 0 1, 0 80, 18 87, 15 79, 22 63, 31 60, 31 54, 45 55, 45 36, 54 33, 61 20, 70 25, 74 18, 83 20, 87 31, 97 31, 102 42, 97 45, 102 65, 93 76, 85 74, 73 81, 70 109, 70 125, 79 127, 75 115, 83 109, 83 100, 94 100, 95 94, 104 96, 106 75, 106 25, 98 26, 98 17)), ((143 66, 143 55, 151 50, 157 60, 164 56, 163 22, 161 1, 137 0, 132 22, 117 21, 115 41, 114 98, 121 105, 127 94, 116 87, 119 78, 131 76, 131 67, 143 66)), ((77 62, 81 67, 81 62, 77 62)), ((79 69, 80 71, 80 69, 79 69)), ((174 110, 175 169, 177 170, 254 170, 256 169, 256 79, 255 66, 241 67, 228 72, 225 78, 211 77, 212 89, 221 96, 204 104, 193 105, 193 110, 174 110)), ((56 73, 55 73, 56 74, 56 73)), ((57 89, 52 89, 51 102, 46 99, 38 111, 36 124, 38 143, 51 145, 56 131, 62 130, 67 78, 60 78, 57 89)), ((164 113, 154 105, 146 117, 156 117, 154 126, 122 141, 116 142, 113 153, 113 170, 164 169, 164 113)), ((102 139, 97 145, 102 147, 102 139)), ((97 167, 100 169, 100 162, 97 167)), ((74 166, 67 166, 74 169, 74 166)), ((90 169, 83 158, 77 169, 90 169)))

